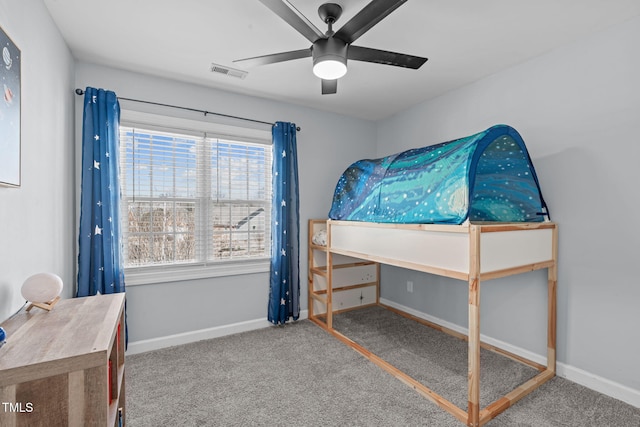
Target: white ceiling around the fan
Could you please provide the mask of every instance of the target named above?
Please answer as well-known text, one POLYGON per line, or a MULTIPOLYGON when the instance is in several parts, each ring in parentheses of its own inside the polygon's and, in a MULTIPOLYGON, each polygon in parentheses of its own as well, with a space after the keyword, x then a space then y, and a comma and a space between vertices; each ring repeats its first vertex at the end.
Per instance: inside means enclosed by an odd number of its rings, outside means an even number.
MULTIPOLYGON (((640 15, 638 0, 413 0, 354 45, 429 58, 419 70, 350 61, 338 93, 320 94, 311 58, 248 69, 211 63, 310 43, 258 0, 44 0, 86 62, 377 120, 640 15)), ((322 0, 290 0, 322 31, 322 0)), ((339 29, 369 0, 334 0, 339 29)), ((598 58, 594 58, 597 61, 598 58)), ((122 96, 132 96, 123 94, 122 96)))

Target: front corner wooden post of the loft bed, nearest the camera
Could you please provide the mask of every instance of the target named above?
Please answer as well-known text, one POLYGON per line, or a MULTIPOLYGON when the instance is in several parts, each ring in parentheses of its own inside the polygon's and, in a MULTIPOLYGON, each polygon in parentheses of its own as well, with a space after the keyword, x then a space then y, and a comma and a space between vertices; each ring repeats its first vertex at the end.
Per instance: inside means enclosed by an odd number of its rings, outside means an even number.
POLYGON ((467 425, 480 425, 480 227, 469 230, 469 404, 467 425))

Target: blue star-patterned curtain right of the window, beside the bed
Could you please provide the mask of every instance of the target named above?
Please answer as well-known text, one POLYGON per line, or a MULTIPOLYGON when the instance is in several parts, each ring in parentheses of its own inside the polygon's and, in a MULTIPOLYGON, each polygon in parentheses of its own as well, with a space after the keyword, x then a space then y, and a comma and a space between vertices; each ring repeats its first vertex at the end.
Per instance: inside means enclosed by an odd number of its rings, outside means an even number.
POLYGON ((273 200, 269 315, 274 324, 300 316, 300 213, 296 125, 273 125, 273 200))

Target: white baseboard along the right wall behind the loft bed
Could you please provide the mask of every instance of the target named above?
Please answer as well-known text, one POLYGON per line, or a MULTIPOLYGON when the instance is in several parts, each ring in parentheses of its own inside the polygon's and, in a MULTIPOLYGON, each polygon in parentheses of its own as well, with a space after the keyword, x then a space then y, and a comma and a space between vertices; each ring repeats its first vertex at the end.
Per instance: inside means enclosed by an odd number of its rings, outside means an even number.
MULTIPOLYGON (((380 298, 380 302, 398 310, 402 310, 405 313, 409 313, 413 316, 428 320, 445 328, 449 328, 461 334, 468 334, 468 328, 464 328, 460 325, 447 322, 446 320, 442 320, 438 317, 431 316, 429 314, 423 313, 410 307, 406 307, 393 301, 389 301, 384 298, 380 298)), ((480 339, 487 344, 493 345, 502 350, 506 350, 510 353, 524 357, 536 363, 540 363, 542 365, 547 364, 546 355, 533 353, 529 350, 513 346, 509 343, 488 337, 484 334, 480 334, 480 339)), ((607 378, 592 374, 590 372, 561 362, 556 363, 556 374, 559 377, 566 378, 569 381, 573 381, 574 383, 595 390, 598 393, 605 394, 607 396, 613 397, 614 399, 618 399, 625 403, 628 403, 629 405, 635 406, 636 408, 640 408, 640 390, 632 389, 631 387, 627 387, 623 384, 611 381, 607 378)))

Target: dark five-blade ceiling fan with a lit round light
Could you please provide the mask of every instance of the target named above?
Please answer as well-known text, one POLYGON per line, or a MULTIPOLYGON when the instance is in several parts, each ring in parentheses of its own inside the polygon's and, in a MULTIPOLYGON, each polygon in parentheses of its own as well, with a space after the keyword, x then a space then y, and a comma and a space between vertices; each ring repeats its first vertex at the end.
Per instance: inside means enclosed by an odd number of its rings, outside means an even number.
POLYGON ((329 27, 327 32, 323 34, 288 0, 260 0, 262 4, 306 37, 312 43, 311 48, 238 59, 233 62, 252 67, 311 56, 313 58, 313 73, 322 79, 323 95, 337 92, 338 79, 347 72, 347 59, 418 69, 427 61, 427 58, 352 45, 371 27, 406 1, 373 0, 337 32, 333 31, 333 24, 340 18, 342 7, 336 3, 325 3, 318 8, 320 19, 329 27))

